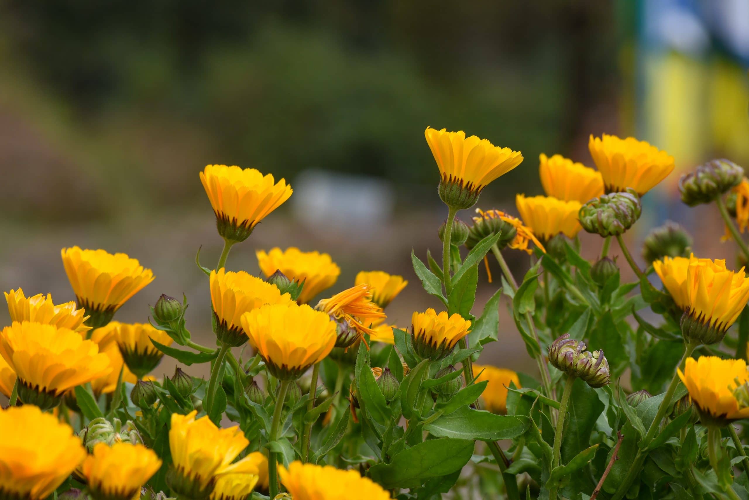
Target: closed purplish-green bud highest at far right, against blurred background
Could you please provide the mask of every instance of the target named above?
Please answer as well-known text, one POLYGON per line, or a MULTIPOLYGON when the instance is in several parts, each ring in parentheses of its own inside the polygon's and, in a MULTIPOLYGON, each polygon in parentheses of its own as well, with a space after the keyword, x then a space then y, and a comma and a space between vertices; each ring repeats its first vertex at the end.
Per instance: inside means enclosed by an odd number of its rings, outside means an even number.
POLYGON ((729 160, 712 160, 697 170, 679 178, 682 202, 694 207, 711 203, 715 198, 738 186, 744 178, 744 169, 729 160))

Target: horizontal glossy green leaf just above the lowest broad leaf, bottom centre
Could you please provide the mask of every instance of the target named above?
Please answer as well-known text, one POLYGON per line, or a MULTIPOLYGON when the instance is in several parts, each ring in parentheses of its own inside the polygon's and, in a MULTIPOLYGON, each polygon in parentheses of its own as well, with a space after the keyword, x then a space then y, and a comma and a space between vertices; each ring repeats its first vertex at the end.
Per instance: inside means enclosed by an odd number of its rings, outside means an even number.
POLYGON ((494 415, 463 406, 425 425, 432 436, 497 441, 514 439, 528 430, 529 418, 521 415, 494 415))

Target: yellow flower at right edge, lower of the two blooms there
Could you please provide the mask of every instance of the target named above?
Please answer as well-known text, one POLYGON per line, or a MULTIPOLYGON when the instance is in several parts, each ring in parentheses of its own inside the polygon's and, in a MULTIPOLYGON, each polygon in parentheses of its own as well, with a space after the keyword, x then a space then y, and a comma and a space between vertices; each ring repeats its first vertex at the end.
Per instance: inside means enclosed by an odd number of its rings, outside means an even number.
POLYGON ((716 356, 700 356, 697 360, 687 358, 684 372, 681 369, 677 371, 700 415, 720 420, 749 417, 748 402, 736 398, 736 389, 749 382, 749 372, 743 359, 721 359, 716 356))

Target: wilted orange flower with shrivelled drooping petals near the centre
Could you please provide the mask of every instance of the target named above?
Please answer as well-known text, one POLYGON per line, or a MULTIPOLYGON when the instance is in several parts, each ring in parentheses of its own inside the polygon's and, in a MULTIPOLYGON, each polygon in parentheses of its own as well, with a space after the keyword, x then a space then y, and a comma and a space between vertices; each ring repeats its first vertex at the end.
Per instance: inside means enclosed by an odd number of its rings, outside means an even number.
POLYGON ((357 336, 350 333, 352 329, 359 337, 363 334, 372 335, 372 323, 386 318, 382 308, 372 301, 371 290, 372 286, 366 283, 352 286, 331 298, 321 300, 315 307, 344 323, 339 326, 336 347, 348 347, 357 340, 357 336))

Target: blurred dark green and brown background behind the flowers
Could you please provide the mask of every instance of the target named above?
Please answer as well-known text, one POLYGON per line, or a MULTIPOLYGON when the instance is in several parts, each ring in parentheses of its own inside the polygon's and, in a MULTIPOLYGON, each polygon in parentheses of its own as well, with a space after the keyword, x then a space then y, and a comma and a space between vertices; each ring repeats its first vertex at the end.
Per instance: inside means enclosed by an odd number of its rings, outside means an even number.
MULTIPOLYGON (((541 193, 540 153, 592 166, 590 133, 646 139, 677 171, 646 197, 633 248, 672 219, 697 235, 697 253, 735 257, 718 214, 681 205, 676 181, 713 157, 749 164, 749 0, 0 5, 4 290, 72 300, 61 247, 126 252, 157 279, 117 318, 145 322, 161 293, 184 292, 190 330, 210 343, 194 261, 202 246, 213 265, 222 241, 198 172, 226 163, 294 187, 228 268, 258 273, 256 249, 294 245, 341 266, 330 292, 360 270, 402 274, 410 285, 389 316, 407 325, 437 306, 410 266, 412 247, 439 253, 446 216, 427 125, 523 151, 478 205, 511 213, 515 193, 541 193)), ((583 240, 598 253, 599 238, 583 240)), ((521 277, 528 256, 506 258, 521 277)), ((497 286, 481 278, 474 312, 497 286)), ((501 313, 502 341, 482 362, 533 372, 501 313)))

